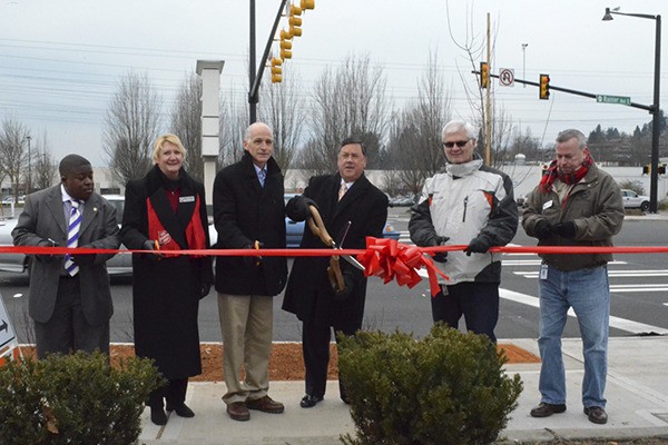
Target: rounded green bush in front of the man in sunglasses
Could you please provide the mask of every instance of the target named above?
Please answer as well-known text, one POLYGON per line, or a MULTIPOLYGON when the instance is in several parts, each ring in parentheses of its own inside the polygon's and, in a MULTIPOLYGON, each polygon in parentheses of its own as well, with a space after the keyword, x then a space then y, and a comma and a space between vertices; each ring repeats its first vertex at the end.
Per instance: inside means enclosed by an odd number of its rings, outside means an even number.
POLYGON ((340 378, 351 399, 354 445, 475 445, 493 442, 522 392, 488 337, 442 325, 412 334, 341 338, 340 378))

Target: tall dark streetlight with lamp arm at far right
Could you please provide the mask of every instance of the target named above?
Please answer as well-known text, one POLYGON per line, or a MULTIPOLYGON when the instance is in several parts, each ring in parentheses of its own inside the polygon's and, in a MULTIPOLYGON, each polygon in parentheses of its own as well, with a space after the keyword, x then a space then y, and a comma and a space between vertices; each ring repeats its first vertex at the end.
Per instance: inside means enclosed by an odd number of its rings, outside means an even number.
POLYGON ((612 20, 612 14, 639 17, 641 19, 651 19, 657 23, 656 43, 655 43, 655 88, 654 102, 650 113, 651 119, 651 171, 649 176, 649 211, 657 212, 657 195, 659 185, 659 87, 660 87, 660 66, 661 66, 661 16, 651 16, 644 13, 619 12, 619 8, 606 8, 603 21, 612 20))

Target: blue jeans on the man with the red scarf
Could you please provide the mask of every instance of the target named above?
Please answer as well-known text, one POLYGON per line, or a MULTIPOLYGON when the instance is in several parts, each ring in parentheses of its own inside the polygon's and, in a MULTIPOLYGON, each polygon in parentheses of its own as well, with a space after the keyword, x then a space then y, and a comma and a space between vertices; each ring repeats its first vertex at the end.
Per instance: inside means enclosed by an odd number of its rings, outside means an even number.
POLYGON ((539 389, 541 402, 566 403, 566 372, 561 357, 561 334, 567 313, 573 308, 580 325, 584 356, 582 405, 606 407, 603 392, 608 373, 608 328, 610 286, 608 267, 561 271, 548 266, 546 279, 539 279, 540 337, 542 366, 539 389))

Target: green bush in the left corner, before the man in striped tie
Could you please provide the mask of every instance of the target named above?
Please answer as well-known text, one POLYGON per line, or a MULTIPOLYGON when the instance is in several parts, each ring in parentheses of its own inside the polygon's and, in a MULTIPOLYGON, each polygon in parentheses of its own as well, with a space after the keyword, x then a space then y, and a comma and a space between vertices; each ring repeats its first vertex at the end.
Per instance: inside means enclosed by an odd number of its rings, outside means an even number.
POLYGON ((0 368, 0 443, 118 444, 137 442, 144 403, 163 384, 151 360, 107 355, 52 355, 0 368))

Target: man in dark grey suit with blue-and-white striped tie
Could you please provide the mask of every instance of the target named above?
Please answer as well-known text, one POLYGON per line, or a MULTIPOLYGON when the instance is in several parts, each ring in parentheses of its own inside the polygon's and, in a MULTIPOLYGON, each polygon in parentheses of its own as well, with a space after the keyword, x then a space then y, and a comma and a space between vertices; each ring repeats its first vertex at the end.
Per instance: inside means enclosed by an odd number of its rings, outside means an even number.
MULTIPOLYGON (((68 155, 59 170, 59 185, 26 198, 11 233, 14 245, 117 249, 116 208, 94 191, 90 162, 68 155)), ((112 256, 32 256, 28 310, 38 358, 73 350, 109 353, 114 307, 106 263, 112 256)))

